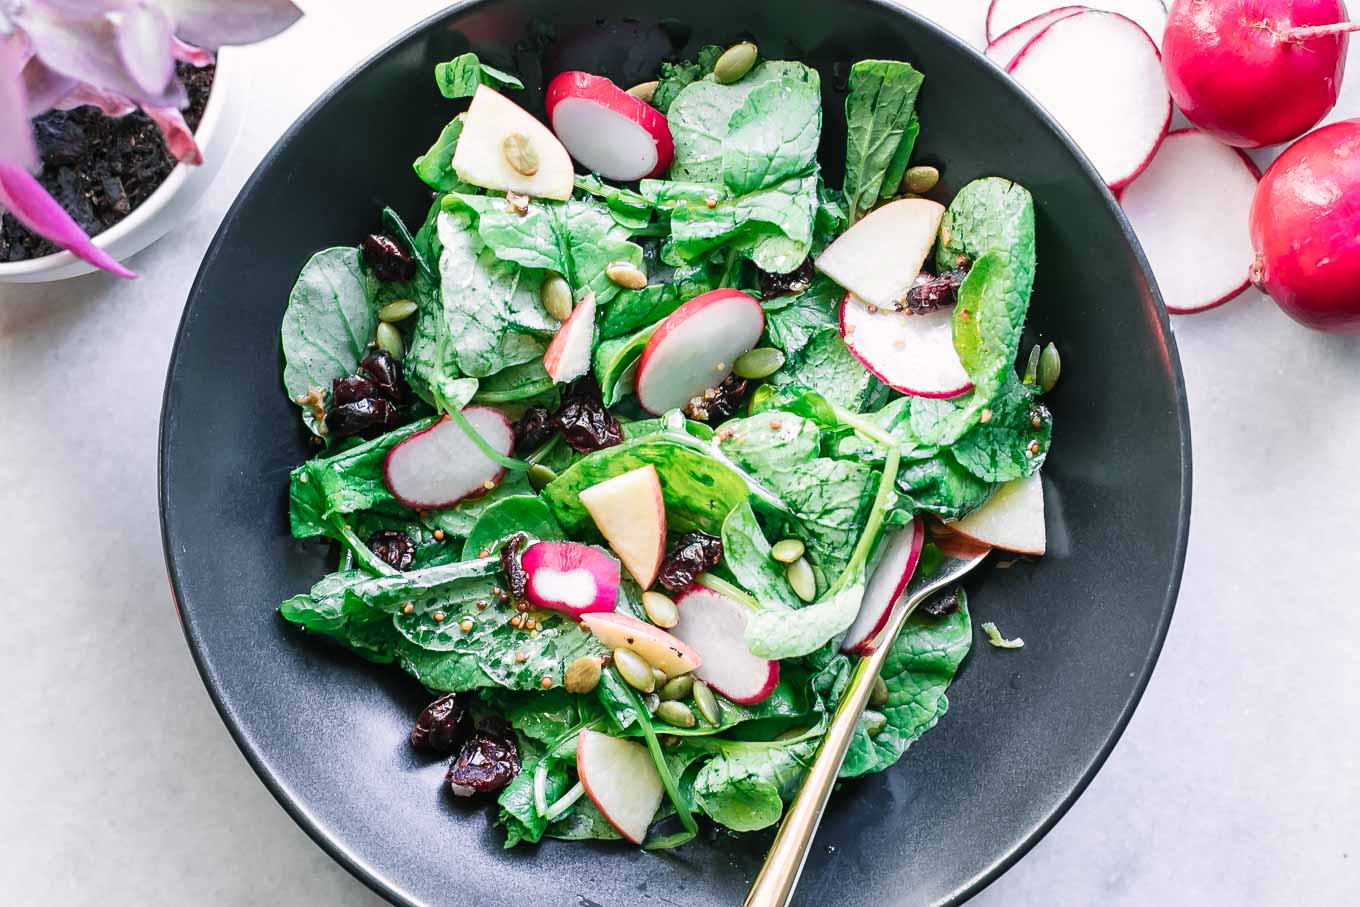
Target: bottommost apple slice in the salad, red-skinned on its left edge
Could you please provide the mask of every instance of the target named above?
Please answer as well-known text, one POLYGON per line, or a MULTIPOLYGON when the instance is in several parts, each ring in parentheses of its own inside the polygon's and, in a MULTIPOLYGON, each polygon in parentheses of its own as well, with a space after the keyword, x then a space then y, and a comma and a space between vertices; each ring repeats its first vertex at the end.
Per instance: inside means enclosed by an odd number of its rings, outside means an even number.
POLYGON ((647 748, 585 729, 577 737, 577 775, 605 821, 641 844, 664 793, 647 748))

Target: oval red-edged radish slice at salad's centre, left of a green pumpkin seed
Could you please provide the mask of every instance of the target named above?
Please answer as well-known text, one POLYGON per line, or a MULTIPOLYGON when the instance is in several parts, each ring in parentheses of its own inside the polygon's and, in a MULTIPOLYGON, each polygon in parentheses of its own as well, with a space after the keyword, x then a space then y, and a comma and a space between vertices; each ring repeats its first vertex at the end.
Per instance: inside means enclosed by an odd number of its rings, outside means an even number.
MULTIPOLYGON (((764 309, 740 290, 710 290, 672 311, 638 359, 638 403, 660 416, 732 374, 764 333, 764 309)), ((624 559, 627 563, 627 559, 624 559)))

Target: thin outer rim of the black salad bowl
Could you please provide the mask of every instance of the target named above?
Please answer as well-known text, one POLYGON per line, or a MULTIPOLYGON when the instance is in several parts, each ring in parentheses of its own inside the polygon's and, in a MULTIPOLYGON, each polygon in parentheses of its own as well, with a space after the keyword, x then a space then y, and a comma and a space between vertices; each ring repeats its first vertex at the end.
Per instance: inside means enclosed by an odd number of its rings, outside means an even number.
MULTIPOLYGON (((222 219, 222 224, 214 234, 212 243, 208 246, 208 252, 204 254, 204 264, 211 260, 218 253, 218 246, 222 239, 223 231, 227 228, 233 220, 235 220, 239 208, 245 204, 245 199, 250 194, 250 190, 260 181, 261 174, 273 166, 275 160, 279 158, 283 146, 288 144, 295 136, 298 136, 311 121, 313 114, 322 106, 325 106, 336 94, 345 88, 351 82, 360 78, 363 72, 377 63, 379 58, 392 53, 396 48, 420 34, 426 29, 435 26, 439 22, 452 19, 458 14, 468 10, 491 5, 495 3, 502 3, 503 0, 456 0, 439 12, 435 12, 416 24, 411 26, 392 41, 385 44, 382 48, 367 56, 358 65, 352 67, 345 75, 337 79, 326 91, 318 97, 307 109, 294 121, 294 124, 275 141, 273 147, 264 156, 260 165, 250 174, 250 178, 241 186, 235 201, 231 203, 231 208, 227 209, 227 215, 222 219)), ((1166 645, 1167 632, 1171 628, 1171 617, 1176 605, 1176 596, 1180 590, 1180 579, 1185 572, 1186 560, 1186 547, 1190 534, 1190 502, 1191 502, 1191 446, 1190 446, 1190 409, 1186 397, 1185 374, 1180 369, 1180 354, 1176 347, 1175 333, 1171 330, 1171 320, 1167 314, 1167 307, 1161 299, 1161 290, 1157 287, 1156 277, 1152 273, 1152 267, 1148 264, 1146 254, 1142 252, 1142 246, 1138 243, 1137 235, 1133 233, 1127 218, 1123 215, 1123 209, 1119 207, 1114 197, 1114 193, 1106 186, 1104 181, 1100 178, 1095 166, 1087 159, 1081 148, 1073 141, 1072 136, 1064 129, 1043 106, 1019 83, 1013 79, 1006 78, 1005 72, 997 67, 994 63, 987 60, 982 53, 979 53, 972 45, 967 44, 964 39, 955 35, 952 31, 947 31, 941 26, 936 24, 930 19, 902 7, 894 0, 866 0, 869 4, 884 8, 911 19, 918 29, 923 29, 932 33, 933 39, 942 41, 952 45, 956 50, 962 52, 964 56, 971 56, 974 65, 982 67, 990 73, 993 80, 1000 86, 998 90, 1009 91, 1015 98, 1024 105, 1024 107, 1038 120, 1040 124, 1051 129, 1058 137, 1069 147, 1073 156, 1078 162, 1077 166, 1083 175, 1091 182, 1100 186, 1106 205, 1114 213, 1125 239, 1129 242, 1133 253, 1134 261, 1142 271, 1148 280, 1148 287, 1152 290, 1153 299, 1156 301, 1156 315, 1157 328, 1161 333, 1161 339, 1167 345, 1171 362, 1171 377, 1175 388, 1176 396, 1176 427, 1180 437, 1180 509, 1176 514, 1176 552, 1175 562, 1172 564, 1171 577, 1167 582, 1166 597, 1161 605, 1161 613, 1159 617, 1157 634, 1153 639, 1152 647, 1148 650, 1146 661, 1144 662, 1142 670, 1140 672, 1134 688, 1119 711, 1119 717, 1115 721, 1114 728, 1110 729, 1108 736, 1100 745, 1099 751, 1092 756, 1091 761, 1081 772, 1081 778, 1069 790, 1062 800, 1054 806, 1053 812, 1049 813, 1036 824, 1009 853, 1004 854, 1000 859, 993 862, 990 866, 982 868, 972 880, 956 891, 947 902, 951 907, 962 904, 983 888, 990 885, 993 881, 1000 878, 1008 869, 1010 869, 1021 857, 1030 853, 1035 844, 1038 844, 1044 835, 1047 835, 1054 825, 1058 824, 1072 805, 1085 793, 1087 787, 1095 779, 1096 774, 1104 766, 1110 753, 1114 752, 1115 744, 1123 736, 1125 729, 1129 726, 1129 721, 1133 718, 1134 710, 1138 707, 1138 702, 1142 699, 1144 692, 1148 688, 1148 683, 1152 680, 1152 672, 1156 668, 1157 660, 1161 655, 1161 647, 1166 645)), ((392 884, 389 880, 384 878, 378 872, 369 866, 360 854, 352 853, 347 849, 332 832, 321 825, 307 809, 307 805, 299 798, 288 793, 279 781, 265 768, 261 755, 256 748, 248 741, 241 721, 233 711, 224 699, 222 698, 222 691, 214 676, 212 665, 209 662, 209 655, 204 649, 197 631, 199 619, 196 615, 188 612, 184 608, 181 592, 180 592, 180 566, 175 559, 174 547, 171 544, 170 532, 166 524, 166 509, 167 509, 167 494, 166 494, 166 420, 169 413, 170 403, 170 377, 174 373, 174 363, 180 358, 180 345, 184 341, 185 325, 189 320, 189 310, 193 299, 199 294, 200 283, 203 281, 203 265, 199 268, 197 276, 194 276, 193 286, 189 288, 189 296, 184 313, 180 317, 180 325, 175 329, 175 343, 170 352, 170 364, 166 370, 166 386, 162 394, 160 405, 160 428, 158 438, 158 456, 156 456, 156 483, 158 483, 158 509, 160 515, 160 540, 165 549, 166 568, 170 579, 170 592, 174 597, 175 612, 180 616, 180 623, 184 630, 185 640, 189 645, 189 651, 193 655, 194 666, 199 670, 199 676, 203 679, 204 687, 208 689, 208 696, 212 699, 214 707, 222 717, 223 723, 227 726, 227 732, 235 741, 237 747, 241 749, 250 768, 258 775, 264 786, 268 787, 269 793, 273 794, 279 805, 292 817, 292 820, 311 838, 325 853, 328 853, 332 859, 344 866, 355 878, 367 885, 374 893, 379 895, 385 900, 393 904, 401 904, 401 907, 428 907, 427 904, 411 900, 407 897, 401 889, 392 884)))

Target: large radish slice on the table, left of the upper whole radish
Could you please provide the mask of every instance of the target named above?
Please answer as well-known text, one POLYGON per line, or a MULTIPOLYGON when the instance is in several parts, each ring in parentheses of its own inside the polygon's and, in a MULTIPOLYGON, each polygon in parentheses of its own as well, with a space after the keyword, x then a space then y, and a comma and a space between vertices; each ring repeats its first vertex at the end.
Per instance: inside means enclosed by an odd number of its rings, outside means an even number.
POLYGON ((1136 22, 1088 10, 1040 31, 1010 64, 1111 189, 1152 160, 1171 125, 1157 45, 1136 22))

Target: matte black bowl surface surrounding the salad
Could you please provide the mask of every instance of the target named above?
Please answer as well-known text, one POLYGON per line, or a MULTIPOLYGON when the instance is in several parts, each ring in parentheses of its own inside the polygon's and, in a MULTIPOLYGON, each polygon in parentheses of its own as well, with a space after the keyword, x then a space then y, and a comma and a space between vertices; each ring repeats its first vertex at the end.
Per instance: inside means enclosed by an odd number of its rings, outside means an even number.
POLYGON ((1044 469, 1051 553, 971 583, 978 619, 1028 645, 981 643, 940 726, 891 771, 842 786, 798 903, 941 904, 976 892, 1081 793, 1152 672, 1189 522, 1179 362, 1127 223, 1028 97, 953 37, 876 0, 460 4, 344 79, 256 171, 194 283, 162 416, 166 559, 204 681, 284 808, 396 903, 734 904, 768 836, 710 831, 668 855, 559 842, 502 850, 494 810, 454 804, 442 763, 407 745, 424 704, 418 685, 284 627, 277 602, 328 570, 321 545, 290 538, 286 518, 288 470, 309 454, 279 378, 288 288, 314 250, 371 231, 382 205, 424 212, 411 160, 456 109, 435 92, 437 61, 473 49, 521 73, 529 90, 517 97, 534 107, 559 69, 631 84, 669 54, 743 37, 821 71, 834 185, 846 64, 922 69, 919 155, 942 165, 948 188, 1002 174, 1034 192, 1031 333, 1057 340, 1064 358, 1044 469))

